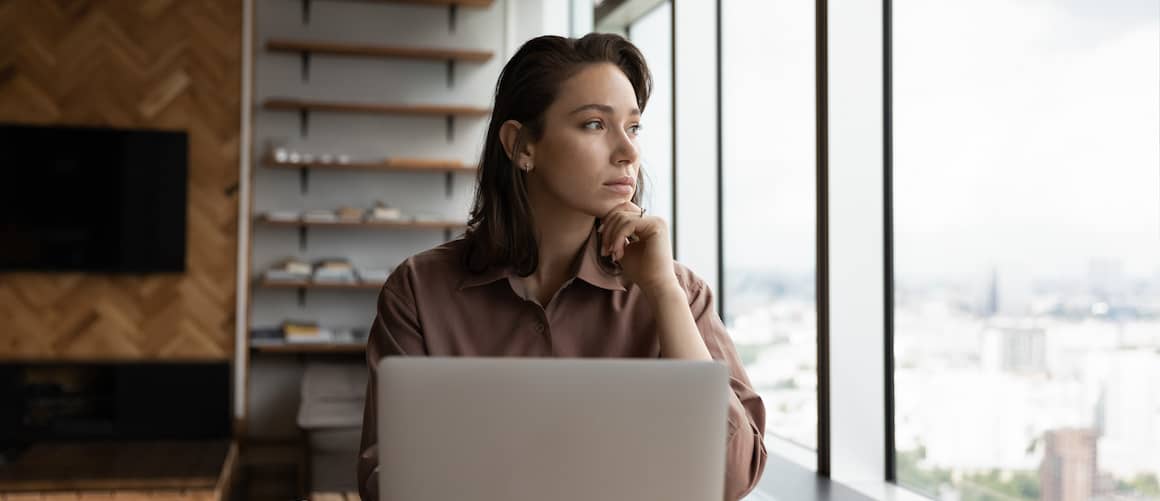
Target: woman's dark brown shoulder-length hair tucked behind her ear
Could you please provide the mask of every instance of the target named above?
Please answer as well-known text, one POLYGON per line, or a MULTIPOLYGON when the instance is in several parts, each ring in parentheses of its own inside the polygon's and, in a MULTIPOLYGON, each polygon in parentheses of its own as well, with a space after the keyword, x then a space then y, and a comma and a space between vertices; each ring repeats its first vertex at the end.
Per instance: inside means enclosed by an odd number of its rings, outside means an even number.
MULTIPOLYGON (((541 36, 523 44, 508 60, 495 85, 495 107, 479 161, 476 199, 467 222, 467 269, 474 273, 491 267, 512 267, 528 276, 539 266, 531 206, 528 203, 527 173, 513 165, 500 143, 500 128, 507 121, 520 122, 514 152, 525 141, 537 141, 544 133, 544 114, 559 93, 560 85, 585 66, 599 63, 616 65, 636 92, 641 112, 652 92, 652 74, 640 51, 618 35, 589 34, 582 38, 541 36)), ((640 203, 641 173, 632 202, 640 203)))

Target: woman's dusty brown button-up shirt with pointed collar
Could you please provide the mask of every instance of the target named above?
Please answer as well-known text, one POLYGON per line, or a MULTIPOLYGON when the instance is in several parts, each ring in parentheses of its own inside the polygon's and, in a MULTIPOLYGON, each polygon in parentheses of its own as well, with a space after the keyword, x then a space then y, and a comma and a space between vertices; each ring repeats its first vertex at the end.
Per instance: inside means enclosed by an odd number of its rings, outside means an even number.
MULTIPOLYGON (((524 299, 509 269, 471 274, 466 240, 416 254, 394 269, 378 297, 371 326, 358 488, 378 500, 376 368, 385 356, 659 357, 652 306, 643 291, 597 263, 595 233, 579 256, 575 275, 546 306, 524 299)), ((766 409, 713 307, 712 292, 688 268, 674 263, 709 354, 730 370, 725 499, 748 493, 766 463, 766 409)))

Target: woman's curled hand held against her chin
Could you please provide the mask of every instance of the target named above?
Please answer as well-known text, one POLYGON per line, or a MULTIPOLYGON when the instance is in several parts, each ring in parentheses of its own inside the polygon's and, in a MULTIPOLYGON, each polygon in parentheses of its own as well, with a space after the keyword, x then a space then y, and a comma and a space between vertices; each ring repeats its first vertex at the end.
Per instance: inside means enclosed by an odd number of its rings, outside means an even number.
POLYGON ((602 219, 601 255, 608 255, 624 269, 624 276, 645 292, 657 293, 680 288, 673 273, 673 248, 668 225, 648 216, 632 202, 617 205, 602 219))

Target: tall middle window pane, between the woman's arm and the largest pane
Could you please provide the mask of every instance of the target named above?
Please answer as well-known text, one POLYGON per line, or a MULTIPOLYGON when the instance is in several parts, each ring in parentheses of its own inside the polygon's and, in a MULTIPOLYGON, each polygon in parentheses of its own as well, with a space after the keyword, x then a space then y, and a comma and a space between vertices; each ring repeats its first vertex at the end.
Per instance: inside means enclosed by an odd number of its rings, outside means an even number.
POLYGON ((725 324, 766 434, 815 449, 813 2, 722 9, 725 324))

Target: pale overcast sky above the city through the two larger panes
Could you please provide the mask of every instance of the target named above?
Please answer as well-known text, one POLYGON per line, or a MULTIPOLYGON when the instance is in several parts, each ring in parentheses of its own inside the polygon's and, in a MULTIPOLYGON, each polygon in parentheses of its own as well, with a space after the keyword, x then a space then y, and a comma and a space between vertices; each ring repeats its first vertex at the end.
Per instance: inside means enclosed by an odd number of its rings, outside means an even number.
MULTIPOLYGON (((812 269, 810 3, 723 6, 731 268, 812 269)), ((899 275, 1160 279, 1160 2, 893 8, 899 275)))

